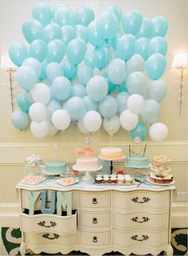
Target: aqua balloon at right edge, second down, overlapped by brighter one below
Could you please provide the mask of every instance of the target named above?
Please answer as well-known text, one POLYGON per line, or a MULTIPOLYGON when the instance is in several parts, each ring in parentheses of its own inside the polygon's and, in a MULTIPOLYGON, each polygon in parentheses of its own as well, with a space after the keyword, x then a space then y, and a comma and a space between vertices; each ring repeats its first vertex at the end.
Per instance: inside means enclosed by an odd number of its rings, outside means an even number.
POLYGON ((164 37, 153 37, 147 45, 147 56, 151 56, 154 53, 161 53, 164 56, 167 51, 167 41, 164 37))

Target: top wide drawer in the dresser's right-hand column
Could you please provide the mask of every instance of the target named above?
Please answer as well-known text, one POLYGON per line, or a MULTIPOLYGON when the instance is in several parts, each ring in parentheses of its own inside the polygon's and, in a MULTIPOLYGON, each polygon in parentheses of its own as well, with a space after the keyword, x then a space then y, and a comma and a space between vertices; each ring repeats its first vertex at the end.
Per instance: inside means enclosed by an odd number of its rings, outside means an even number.
POLYGON ((113 207, 123 211, 138 209, 167 210, 170 203, 169 191, 113 192, 113 207))

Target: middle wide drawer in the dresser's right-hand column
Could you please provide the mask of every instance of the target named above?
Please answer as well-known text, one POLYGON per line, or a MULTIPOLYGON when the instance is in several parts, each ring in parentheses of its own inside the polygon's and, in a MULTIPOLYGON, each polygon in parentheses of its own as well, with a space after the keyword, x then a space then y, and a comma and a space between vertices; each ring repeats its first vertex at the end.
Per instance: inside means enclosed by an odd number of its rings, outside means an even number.
POLYGON ((117 229, 128 227, 149 227, 149 228, 167 228, 169 212, 139 212, 131 211, 129 213, 113 212, 113 226, 117 229))

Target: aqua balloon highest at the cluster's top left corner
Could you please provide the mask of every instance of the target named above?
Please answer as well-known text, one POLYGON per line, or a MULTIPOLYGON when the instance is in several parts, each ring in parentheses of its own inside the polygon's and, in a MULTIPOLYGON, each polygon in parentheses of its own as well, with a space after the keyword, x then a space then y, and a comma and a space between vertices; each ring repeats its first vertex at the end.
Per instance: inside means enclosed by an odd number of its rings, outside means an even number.
POLYGON ((52 18, 51 10, 49 6, 45 4, 45 2, 37 2, 33 6, 32 16, 33 18, 41 22, 43 26, 49 24, 52 18))

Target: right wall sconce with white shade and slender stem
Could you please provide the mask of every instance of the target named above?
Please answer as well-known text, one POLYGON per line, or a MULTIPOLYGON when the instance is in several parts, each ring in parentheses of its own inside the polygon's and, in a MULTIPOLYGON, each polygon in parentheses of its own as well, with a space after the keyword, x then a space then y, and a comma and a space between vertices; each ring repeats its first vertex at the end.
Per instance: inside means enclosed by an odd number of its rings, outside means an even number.
POLYGON ((180 69, 181 70, 181 83, 179 89, 179 116, 182 114, 182 93, 183 93, 183 76, 184 70, 187 69, 188 66, 188 53, 178 53, 174 55, 172 61, 172 68, 180 69))

